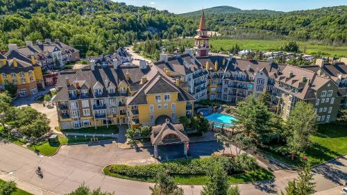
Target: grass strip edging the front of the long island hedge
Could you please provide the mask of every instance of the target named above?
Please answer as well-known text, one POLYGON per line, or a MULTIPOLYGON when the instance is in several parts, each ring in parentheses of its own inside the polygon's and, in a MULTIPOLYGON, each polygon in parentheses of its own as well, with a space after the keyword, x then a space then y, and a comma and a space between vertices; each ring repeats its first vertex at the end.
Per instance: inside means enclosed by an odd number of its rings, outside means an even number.
MULTIPOLYGON (((117 173, 112 173, 108 169, 108 167, 105 167, 103 169, 103 172, 108 175, 115 178, 124 178, 127 180, 137 180, 142 182, 149 182, 149 183, 155 183, 154 178, 139 178, 139 177, 129 177, 120 175, 117 173)), ((174 181, 176 183, 182 184, 182 185, 205 185, 208 182, 208 176, 203 175, 174 175, 172 176, 174 178, 174 181)), ((260 167, 260 169, 257 169, 256 171, 247 171, 246 173, 239 173, 232 176, 228 176, 230 184, 235 183, 247 183, 247 182, 255 182, 260 180, 271 180, 273 178, 273 174, 270 171, 267 171, 266 169, 263 169, 260 167)))

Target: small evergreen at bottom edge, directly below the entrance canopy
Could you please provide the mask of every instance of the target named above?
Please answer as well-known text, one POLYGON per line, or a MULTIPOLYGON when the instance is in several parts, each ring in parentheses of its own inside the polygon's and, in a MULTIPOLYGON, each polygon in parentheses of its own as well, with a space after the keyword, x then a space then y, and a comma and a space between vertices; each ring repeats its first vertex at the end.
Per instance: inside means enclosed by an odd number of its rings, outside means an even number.
POLYGON ((149 187, 152 195, 184 195, 183 189, 178 187, 165 171, 160 171, 155 180, 155 186, 149 187))

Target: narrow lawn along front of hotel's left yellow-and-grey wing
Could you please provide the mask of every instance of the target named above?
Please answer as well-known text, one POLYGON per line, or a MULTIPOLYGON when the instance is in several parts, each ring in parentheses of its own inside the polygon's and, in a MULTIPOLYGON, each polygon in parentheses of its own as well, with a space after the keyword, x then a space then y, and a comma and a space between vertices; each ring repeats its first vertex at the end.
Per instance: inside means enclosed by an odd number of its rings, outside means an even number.
MULTIPOLYGON (((32 146, 28 146, 28 149, 31 149, 33 151, 37 151, 38 153, 41 153, 43 155, 53 155, 56 153, 56 151, 59 149, 59 146, 61 144, 75 144, 75 143, 81 143, 81 142, 90 142, 91 138, 94 137, 84 137, 84 136, 65 136, 65 135, 58 135, 58 144, 51 145, 48 141, 46 142, 40 142, 32 146)), ((97 137, 99 141, 101 140, 110 140, 115 139, 115 137, 97 137)))

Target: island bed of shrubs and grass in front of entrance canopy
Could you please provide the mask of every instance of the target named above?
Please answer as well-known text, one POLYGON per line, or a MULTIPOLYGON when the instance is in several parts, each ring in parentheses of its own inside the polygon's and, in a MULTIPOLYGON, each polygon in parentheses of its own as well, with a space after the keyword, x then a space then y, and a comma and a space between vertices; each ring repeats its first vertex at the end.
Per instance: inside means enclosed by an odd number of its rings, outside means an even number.
POLYGON ((221 162, 228 173, 230 183, 246 183, 258 180, 270 180, 271 172, 255 164, 255 159, 240 155, 235 160, 225 157, 198 158, 192 160, 175 160, 160 164, 148 164, 131 167, 124 164, 112 164, 103 170, 108 176, 155 182, 155 176, 160 170, 166 170, 176 183, 183 185, 205 185, 208 182, 208 170, 212 164, 221 162))

